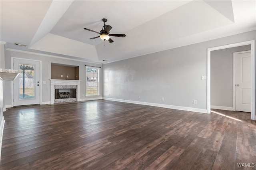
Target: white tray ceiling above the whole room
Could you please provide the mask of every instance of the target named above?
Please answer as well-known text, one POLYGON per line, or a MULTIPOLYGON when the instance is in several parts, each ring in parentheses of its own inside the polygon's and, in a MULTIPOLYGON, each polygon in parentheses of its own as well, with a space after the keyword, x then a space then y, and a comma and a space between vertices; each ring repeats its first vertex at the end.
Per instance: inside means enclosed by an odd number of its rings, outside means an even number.
POLYGON ((256 30, 255 0, 1 0, 0 41, 24 51, 117 61, 256 30), (99 34, 107 18, 113 43, 99 34), (26 44, 26 47, 14 45, 26 44))

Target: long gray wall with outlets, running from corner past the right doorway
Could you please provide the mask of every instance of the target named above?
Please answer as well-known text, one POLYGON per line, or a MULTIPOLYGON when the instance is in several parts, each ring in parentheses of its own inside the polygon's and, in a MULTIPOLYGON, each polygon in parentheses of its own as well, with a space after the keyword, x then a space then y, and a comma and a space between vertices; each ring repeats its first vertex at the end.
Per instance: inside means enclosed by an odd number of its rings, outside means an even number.
POLYGON ((201 76, 207 73, 207 48, 255 39, 252 31, 104 64, 102 95, 206 109, 207 85, 201 76))

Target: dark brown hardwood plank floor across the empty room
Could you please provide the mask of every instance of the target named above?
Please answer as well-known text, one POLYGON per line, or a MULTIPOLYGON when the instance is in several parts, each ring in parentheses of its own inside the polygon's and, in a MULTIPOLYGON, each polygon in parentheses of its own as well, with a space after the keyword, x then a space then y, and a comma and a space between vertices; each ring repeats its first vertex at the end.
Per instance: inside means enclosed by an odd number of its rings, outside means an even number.
POLYGON ((1 170, 256 169, 250 113, 214 112, 106 100, 10 108, 1 170))

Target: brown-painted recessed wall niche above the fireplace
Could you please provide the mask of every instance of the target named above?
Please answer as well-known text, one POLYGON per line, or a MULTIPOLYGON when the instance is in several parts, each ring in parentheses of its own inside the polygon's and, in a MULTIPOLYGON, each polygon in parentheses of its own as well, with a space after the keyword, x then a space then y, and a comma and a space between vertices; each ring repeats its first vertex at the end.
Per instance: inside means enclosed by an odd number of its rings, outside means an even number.
POLYGON ((79 80, 79 66, 51 63, 51 79, 79 80))

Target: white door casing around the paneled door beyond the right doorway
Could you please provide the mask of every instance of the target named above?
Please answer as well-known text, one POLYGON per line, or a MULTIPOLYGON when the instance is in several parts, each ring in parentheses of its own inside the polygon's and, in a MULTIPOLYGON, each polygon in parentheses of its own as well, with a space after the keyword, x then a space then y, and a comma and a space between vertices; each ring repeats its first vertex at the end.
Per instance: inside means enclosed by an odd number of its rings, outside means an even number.
POLYGON ((250 53, 251 50, 233 53, 233 111, 236 111, 236 54, 250 53))

